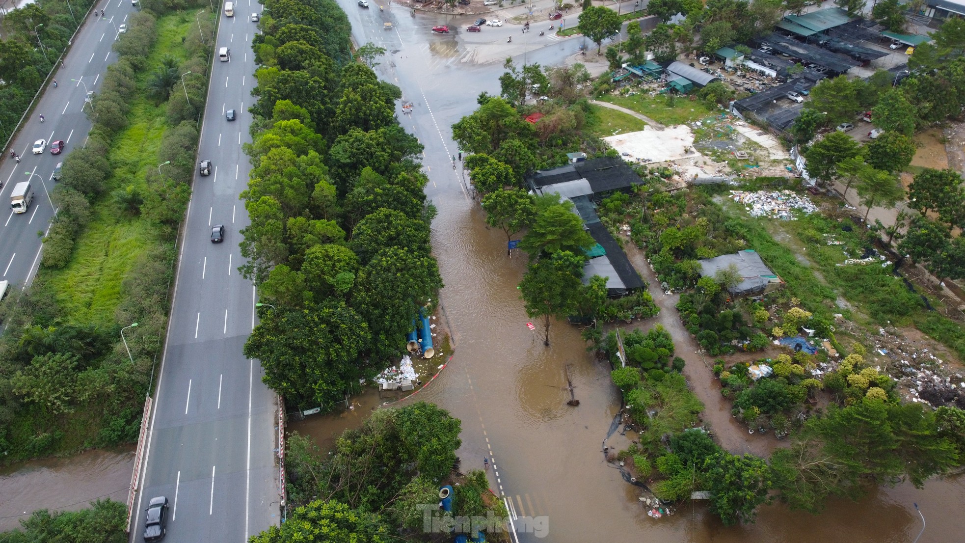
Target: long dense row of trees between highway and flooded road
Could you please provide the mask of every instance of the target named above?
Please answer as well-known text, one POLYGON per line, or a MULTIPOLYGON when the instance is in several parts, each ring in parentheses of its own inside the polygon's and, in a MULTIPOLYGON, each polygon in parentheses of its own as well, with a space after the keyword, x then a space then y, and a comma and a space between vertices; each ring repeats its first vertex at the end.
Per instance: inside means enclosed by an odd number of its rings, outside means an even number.
POLYGON ((434 208, 422 146, 395 117, 400 90, 349 61, 345 13, 331 0, 265 7, 240 271, 275 309, 245 354, 290 405, 327 410, 391 364, 436 299, 434 208))

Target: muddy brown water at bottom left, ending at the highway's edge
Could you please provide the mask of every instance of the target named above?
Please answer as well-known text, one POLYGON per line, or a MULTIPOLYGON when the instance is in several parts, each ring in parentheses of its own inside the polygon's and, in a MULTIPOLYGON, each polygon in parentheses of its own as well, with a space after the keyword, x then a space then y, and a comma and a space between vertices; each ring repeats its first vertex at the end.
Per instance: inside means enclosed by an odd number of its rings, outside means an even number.
POLYGON ((110 498, 127 502, 134 448, 89 450, 0 472, 0 531, 20 528, 36 509, 73 511, 110 498))

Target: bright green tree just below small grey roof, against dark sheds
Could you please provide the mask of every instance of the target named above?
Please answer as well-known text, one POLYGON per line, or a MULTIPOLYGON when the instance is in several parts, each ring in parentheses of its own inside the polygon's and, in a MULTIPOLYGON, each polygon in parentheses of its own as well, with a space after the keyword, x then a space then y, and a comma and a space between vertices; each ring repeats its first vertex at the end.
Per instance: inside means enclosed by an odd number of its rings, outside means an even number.
POLYGON ((567 201, 540 209, 519 248, 529 253, 530 258, 558 251, 583 255, 586 249, 593 247, 593 236, 583 230, 583 219, 572 211, 572 206, 567 201))

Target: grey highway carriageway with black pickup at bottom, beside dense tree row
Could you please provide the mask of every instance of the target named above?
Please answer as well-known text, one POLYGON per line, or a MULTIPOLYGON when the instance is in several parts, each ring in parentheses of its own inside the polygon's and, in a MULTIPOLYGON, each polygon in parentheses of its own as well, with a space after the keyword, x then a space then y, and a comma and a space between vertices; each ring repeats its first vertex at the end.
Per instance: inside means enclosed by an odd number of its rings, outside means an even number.
POLYGON ((275 394, 258 361, 241 354, 256 318, 254 285, 237 271, 238 231, 248 225, 238 194, 251 169, 241 146, 251 142, 253 13, 262 6, 240 0, 234 17, 219 14, 198 157, 214 171, 195 172, 132 541, 142 540, 155 496, 171 503, 171 541, 241 542, 280 520, 275 394), (218 61, 220 47, 229 47, 230 61, 218 61), (234 122, 225 119, 229 109, 234 122), (210 241, 215 225, 225 227, 222 243, 210 241))

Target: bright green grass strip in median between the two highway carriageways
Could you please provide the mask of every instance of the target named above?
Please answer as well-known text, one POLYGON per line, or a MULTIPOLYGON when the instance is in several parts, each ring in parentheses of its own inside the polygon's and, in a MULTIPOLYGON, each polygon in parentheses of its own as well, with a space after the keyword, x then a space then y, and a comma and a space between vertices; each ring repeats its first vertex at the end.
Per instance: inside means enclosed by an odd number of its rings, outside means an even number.
MULTIPOLYGON (((113 142, 108 160, 114 173, 105 181, 103 196, 92 206, 94 217, 74 247, 70 263, 60 270, 43 270, 42 279, 57 292, 66 320, 110 325, 121 303, 121 285, 131 266, 159 239, 151 225, 126 217, 111 196, 118 188, 145 187, 145 173, 156 168, 161 136, 168 128, 166 103, 156 103, 143 92, 151 70, 165 55, 187 57, 181 39, 195 24, 194 17, 168 14, 157 19, 157 41, 147 67, 137 74, 139 92, 131 104, 128 127, 113 142)), ((65 440, 69 441, 69 440, 65 440)))

